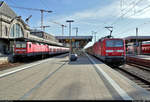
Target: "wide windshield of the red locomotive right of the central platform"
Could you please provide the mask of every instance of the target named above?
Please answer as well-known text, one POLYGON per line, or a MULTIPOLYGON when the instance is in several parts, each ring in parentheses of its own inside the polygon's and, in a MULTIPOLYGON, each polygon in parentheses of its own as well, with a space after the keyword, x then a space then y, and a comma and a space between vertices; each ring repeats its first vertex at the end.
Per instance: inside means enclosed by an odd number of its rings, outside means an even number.
POLYGON ((107 40, 106 47, 123 47, 123 40, 107 40))

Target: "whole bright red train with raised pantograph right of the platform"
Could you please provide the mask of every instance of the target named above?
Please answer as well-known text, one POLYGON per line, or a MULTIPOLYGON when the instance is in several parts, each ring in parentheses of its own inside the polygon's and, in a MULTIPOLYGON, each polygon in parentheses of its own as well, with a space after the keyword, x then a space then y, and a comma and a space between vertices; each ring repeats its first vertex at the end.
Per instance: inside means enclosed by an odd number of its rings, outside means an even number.
POLYGON ((122 65, 126 56, 125 41, 120 38, 104 37, 87 48, 87 52, 106 63, 122 65))

